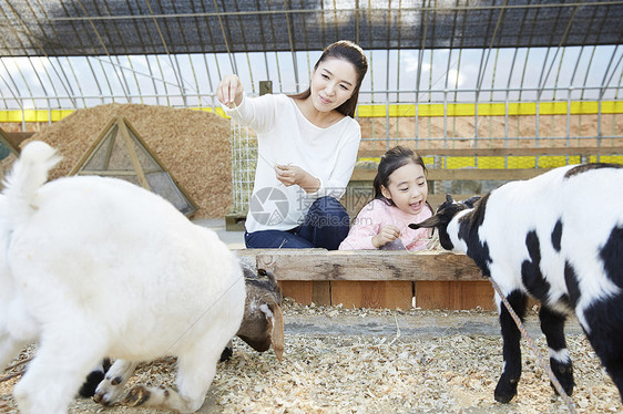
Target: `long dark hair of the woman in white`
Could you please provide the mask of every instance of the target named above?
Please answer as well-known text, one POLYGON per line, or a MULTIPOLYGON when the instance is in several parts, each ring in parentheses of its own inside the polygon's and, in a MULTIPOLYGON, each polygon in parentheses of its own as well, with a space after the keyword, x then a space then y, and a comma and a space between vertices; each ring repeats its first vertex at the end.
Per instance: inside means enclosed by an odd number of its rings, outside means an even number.
MULTIPOLYGON (((350 62, 357 72, 357 84, 353 90, 353 95, 350 95, 345 103, 336 108, 337 112, 346 116, 355 117, 355 110, 357 108, 357 101, 359 100, 361 81, 364 81, 364 76, 366 75, 366 72, 368 72, 368 59, 366 58, 364 50, 361 50, 361 48, 359 48, 356 43, 349 40, 339 40, 325 48, 320 59, 318 59, 318 62, 314 65, 314 71, 318 69, 318 65, 321 62, 331 58, 343 59, 350 62)), ((309 95, 312 95, 312 86, 309 86, 305 92, 288 96, 294 100, 306 100, 309 95)))

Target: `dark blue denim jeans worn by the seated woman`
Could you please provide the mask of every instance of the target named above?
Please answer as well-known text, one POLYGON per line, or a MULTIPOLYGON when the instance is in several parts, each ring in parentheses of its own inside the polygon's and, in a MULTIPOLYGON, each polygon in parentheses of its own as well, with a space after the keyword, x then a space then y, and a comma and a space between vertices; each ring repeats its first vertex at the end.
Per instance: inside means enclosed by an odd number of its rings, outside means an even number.
POLYGON ((305 249, 337 250, 348 236, 350 218, 346 208, 334 197, 320 197, 309 207, 303 225, 292 230, 245 231, 249 249, 305 249))

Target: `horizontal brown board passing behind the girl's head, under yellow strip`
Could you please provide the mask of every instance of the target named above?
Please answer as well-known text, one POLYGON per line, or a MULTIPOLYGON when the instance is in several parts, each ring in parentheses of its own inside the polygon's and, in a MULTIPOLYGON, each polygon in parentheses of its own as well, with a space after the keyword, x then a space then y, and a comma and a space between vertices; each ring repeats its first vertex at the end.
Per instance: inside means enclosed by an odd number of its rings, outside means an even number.
MULTIPOLYGON (((457 168, 441 169, 430 168, 427 179, 429 182, 441 179, 501 179, 515 180, 529 179, 549 172, 551 168, 457 168)), ((355 168, 351 182, 371 182, 377 172, 370 168, 355 168)))

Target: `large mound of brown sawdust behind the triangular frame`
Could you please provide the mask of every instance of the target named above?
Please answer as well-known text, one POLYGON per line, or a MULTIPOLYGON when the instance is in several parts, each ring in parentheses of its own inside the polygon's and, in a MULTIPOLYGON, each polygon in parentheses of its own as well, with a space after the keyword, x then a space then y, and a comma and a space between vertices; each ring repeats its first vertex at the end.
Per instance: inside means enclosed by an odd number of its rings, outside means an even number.
MULTIPOLYGON (((51 177, 68 175, 113 117, 124 116, 197 204, 194 218, 222 218, 232 205, 229 122, 193 110, 109 104, 79 110, 29 141, 58 148, 63 161, 51 177)), ((22 147, 25 143, 22 144, 22 147)))

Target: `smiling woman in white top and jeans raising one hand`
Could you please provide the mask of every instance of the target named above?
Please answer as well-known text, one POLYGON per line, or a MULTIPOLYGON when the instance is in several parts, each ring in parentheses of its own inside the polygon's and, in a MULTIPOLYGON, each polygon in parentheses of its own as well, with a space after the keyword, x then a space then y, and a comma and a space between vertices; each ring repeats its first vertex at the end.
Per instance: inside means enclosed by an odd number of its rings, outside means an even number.
POLYGON ((246 97, 236 75, 216 97, 225 112, 257 133, 257 168, 245 224, 248 248, 336 250, 349 217, 346 192, 361 131, 354 120, 368 70, 362 50, 338 41, 314 66, 307 91, 246 97))

